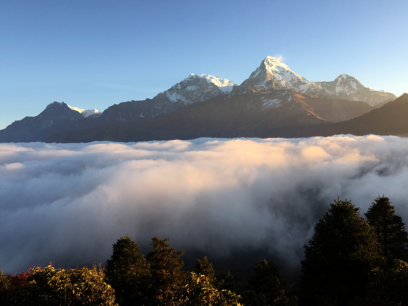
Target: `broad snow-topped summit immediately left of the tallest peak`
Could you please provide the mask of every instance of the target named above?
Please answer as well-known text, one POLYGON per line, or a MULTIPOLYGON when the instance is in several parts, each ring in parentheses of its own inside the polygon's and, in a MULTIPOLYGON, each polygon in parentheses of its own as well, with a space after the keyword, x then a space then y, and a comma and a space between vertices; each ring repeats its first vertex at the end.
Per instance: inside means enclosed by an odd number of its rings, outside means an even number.
POLYGON ((173 104, 189 105, 230 93, 234 82, 209 74, 191 73, 186 79, 159 93, 153 100, 168 99, 173 104))

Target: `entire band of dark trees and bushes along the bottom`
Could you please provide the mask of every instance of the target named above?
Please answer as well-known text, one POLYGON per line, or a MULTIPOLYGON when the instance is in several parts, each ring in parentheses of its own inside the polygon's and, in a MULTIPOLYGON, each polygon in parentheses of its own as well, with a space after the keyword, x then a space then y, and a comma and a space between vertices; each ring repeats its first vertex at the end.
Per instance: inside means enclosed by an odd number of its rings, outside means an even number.
MULTIPOLYGON (((151 239, 146 255, 129 236, 117 239, 106 265, 75 269, 34 267, 0 271, 2 305, 408 305, 408 234, 385 195, 364 217, 349 200, 334 200, 304 245, 300 276, 287 286, 266 259, 252 274, 219 275, 208 257, 184 270, 183 251, 168 238, 151 239)), ((211 256, 211 254, 209 254, 211 256)))

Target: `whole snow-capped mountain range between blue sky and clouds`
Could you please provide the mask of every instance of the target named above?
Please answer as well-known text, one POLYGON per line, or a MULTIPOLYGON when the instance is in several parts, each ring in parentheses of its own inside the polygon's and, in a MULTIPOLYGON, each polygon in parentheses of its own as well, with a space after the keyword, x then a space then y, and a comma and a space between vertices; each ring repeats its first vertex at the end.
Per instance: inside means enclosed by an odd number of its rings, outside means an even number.
MULTIPOLYGON (((407 97, 396 99, 392 93, 364 87, 346 73, 334 81, 312 82, 281 59, 266 57, 241 85, 190 74, 152 99, 115 104, 103 113, 54 102, 39 115, 1 130, 0 142, 381 134, 380 125, 375 126, 377 132, 370 130, 367 118, 384 112, 384 122, 396 124, 390 112, 403 114, 395 109, 403 108, 407 97)), ((408 132, 400 130, 394 135, 408 132)))

